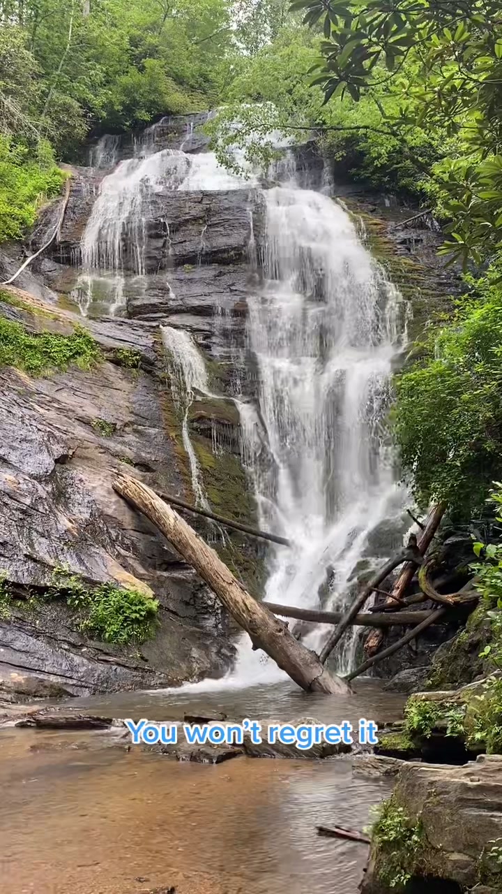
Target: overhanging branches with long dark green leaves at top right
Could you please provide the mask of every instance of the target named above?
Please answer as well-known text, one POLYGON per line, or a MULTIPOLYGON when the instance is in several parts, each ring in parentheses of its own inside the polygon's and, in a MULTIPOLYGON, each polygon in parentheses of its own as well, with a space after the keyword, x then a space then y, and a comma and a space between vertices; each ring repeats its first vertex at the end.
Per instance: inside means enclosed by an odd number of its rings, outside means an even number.
MULTIPOLYGON (((389 132, 445 131, 457 152, 439 169, 451 219, 444 252, 480 263, 502 246, 502 8, 498 0, 294 0, 322 27, 310 74, 324 102, 389 89, 389 132)), ((383 111, 383 109, 382 109, 383 111)))

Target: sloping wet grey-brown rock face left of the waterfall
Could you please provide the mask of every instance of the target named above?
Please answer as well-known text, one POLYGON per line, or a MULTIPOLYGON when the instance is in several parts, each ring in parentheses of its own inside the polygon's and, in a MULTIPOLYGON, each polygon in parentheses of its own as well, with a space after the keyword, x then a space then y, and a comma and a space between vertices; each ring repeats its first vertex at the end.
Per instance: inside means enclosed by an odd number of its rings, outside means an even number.
MULTIPOLYGON (((30 312, 21 292, 15 299, 26 304, 2 303, 0 313, 28 331, 67 333, 82 322, 36 303, 30 312)), ((37 378, 0 373, 0 568, 13 584, 37 589, 58 565, 90 583, 147 586, 161 603, 160 627, 138 652, 89 642, 64 604, 30 610, 16 601, 0 621, 0 672, 11 690, 20 671, 75 695, 165 686, 222 673, 233 655, 219 603, 112 488, 113 474, 130 468, 159 489, 184 493, 163 419, 155 327, 88 325, 110 358, 96 368, 37 378), (138 370, 121 366, 124 350, 135 352, 138 370)))

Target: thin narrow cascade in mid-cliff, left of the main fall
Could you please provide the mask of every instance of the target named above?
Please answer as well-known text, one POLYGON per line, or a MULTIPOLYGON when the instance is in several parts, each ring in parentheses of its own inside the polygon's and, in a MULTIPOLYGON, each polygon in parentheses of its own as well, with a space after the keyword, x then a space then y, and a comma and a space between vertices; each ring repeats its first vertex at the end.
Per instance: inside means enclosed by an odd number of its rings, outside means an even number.
POLYGON ((188 412, 198 395, 210 396, 204 359, 197 350, 190 335, 173 326, 161 326, 163 346, 166 350, 168 369, 171 375, 172 396, 183 413, 181 436, 187 452, 192 477, 192 490, 196 505, 209 510, 210 506, 201 483, 201 471, 197 454, 190 440, 188 412))

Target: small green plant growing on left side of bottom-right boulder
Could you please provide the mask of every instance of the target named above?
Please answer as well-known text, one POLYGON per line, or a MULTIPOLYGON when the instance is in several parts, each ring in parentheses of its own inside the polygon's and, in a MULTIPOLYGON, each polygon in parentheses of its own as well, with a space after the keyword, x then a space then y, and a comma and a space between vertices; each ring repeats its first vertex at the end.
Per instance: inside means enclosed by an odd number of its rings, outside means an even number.
POLYGON ((420 821, 413 822, 397 805, 395 797, 384 801, 372 826, 372 841, 378 848, 377 871, 389 888, 402 888, 414 873, 423 848, 420 821))

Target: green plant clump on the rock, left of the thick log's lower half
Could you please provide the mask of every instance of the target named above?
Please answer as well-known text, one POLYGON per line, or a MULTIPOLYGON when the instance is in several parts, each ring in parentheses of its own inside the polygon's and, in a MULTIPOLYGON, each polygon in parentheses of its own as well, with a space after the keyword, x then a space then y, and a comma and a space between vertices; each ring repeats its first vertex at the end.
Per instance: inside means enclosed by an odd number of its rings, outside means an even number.
POLYGON ((144 643, 155 632, 159 603, 140 590, 105 583, 89 587, 66 568, 54 569, 48 595, 62 595, 79 614, 79 626, 105 643, 144 643))

